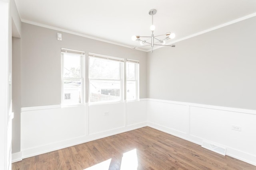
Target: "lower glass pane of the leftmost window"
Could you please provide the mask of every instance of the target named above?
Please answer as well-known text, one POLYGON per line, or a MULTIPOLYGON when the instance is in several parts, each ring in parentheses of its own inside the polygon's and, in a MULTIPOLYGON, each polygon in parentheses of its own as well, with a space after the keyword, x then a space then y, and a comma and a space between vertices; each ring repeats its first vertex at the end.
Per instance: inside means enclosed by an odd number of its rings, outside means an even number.
POLYGON ((64 80, 64 104, 82 103, 82 80, 64 80))

